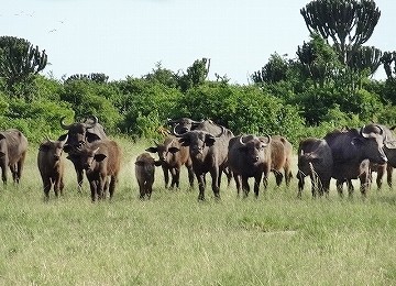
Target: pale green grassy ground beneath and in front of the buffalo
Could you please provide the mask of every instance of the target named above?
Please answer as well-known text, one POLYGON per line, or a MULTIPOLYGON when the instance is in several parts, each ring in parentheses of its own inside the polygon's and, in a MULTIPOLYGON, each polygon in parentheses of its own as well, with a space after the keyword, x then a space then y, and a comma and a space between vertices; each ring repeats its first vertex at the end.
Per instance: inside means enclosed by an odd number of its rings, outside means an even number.
POLYGON ((167 190, 157 168, 141 201, 133 162, 152 143, 119 142, 120 182, 100 204, 86 180, 77 194, 68 161, 64 197, 45 202, 30 146, 20 186, 0 189, 0 285, 396 285, 396 190, 312 200, 307 184, 296 199, 296 177, 276 188, 271 175, 258 199, 232 183, 198 202, 185 169, 167 190))

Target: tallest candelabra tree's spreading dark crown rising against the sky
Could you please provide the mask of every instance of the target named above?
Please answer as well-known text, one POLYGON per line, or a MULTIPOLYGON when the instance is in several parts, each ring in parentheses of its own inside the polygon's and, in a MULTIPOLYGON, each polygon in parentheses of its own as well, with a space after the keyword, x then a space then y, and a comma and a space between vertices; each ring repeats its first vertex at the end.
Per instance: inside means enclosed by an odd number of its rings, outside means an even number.
POLYGON ((369 41, 381 16, 373 0, 315 0, 300 13, 311 33, 332 40, 344 65, 369 41))

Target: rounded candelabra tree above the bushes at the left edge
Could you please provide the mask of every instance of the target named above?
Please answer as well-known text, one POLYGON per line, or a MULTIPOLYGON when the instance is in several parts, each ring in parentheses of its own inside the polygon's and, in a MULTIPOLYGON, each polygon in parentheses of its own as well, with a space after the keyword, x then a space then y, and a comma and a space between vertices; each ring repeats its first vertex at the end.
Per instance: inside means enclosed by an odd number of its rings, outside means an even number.
POLYGON ((46 64, 47 55, 38 46, 24 38, 0 36, 0 77, 9 91, 14 91, 14 84, 31 84, 32 75, 37 75, 46 64))

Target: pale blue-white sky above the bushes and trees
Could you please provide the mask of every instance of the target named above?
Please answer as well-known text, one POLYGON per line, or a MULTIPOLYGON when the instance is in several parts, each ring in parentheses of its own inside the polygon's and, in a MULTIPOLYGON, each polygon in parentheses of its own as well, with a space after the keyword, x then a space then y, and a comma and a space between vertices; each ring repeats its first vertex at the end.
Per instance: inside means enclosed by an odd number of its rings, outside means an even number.
MULTIPOLYGON (((173 72, 211 59, 215 73, 245 85, 271 54, 294 58, 309 41, 299 10, 306 0, 16 0, 2 3, 1 35, 45 50, 42 74, 61 79, 105 73, 111 80, 140 77, 161 62, 173 72)), ((382 15, 365 45, 396 51, 396 1, 376 0, 382 15)), ((385 78, 385 73, 375 78, 385 78)))

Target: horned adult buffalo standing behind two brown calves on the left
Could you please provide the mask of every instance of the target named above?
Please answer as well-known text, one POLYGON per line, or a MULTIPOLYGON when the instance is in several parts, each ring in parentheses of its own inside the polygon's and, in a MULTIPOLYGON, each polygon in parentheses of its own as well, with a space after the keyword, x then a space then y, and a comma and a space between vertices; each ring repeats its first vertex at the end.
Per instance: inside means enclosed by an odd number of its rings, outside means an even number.
POLYGON ((77 174, 77 184, 78 190, 82 190, 82 178, 84 178, 84 166, 81 166, 80 161, 75 156, 77 148, 81 147, 85 143, 92 143, 98 140, 107 139, 103 127, 98 123, 98 118, 87 119, 85 122, 75 122, 72 124, 66 124, 64 122, 65 117, 63 117, 59 122, 61 127, 64 130, 67 130, 66 134, 59 136, 58 141, 64 141, 67 136, 67 142, 65 144, 65 152, 72 156, 68 156, 68 160, 72 161, 76 174, 77 174))

